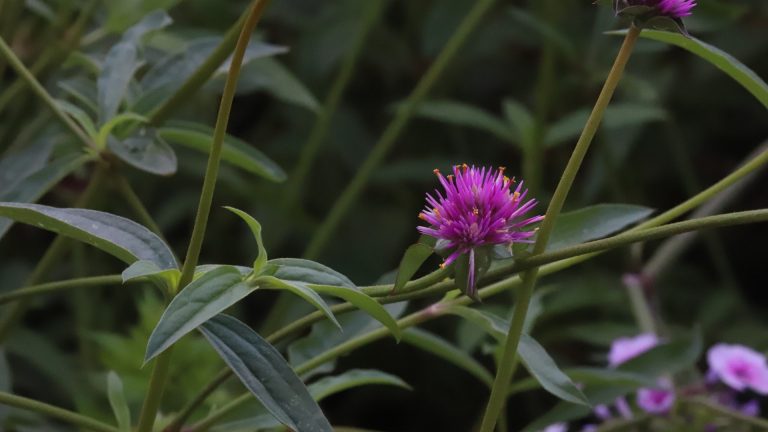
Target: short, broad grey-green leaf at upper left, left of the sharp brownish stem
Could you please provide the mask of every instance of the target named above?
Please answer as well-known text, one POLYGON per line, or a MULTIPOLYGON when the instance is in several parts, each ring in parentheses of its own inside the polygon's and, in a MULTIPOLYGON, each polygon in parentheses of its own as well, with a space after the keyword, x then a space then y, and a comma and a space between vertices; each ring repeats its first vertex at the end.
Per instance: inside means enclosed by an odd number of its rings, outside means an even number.
POLYGON ((126 139, 110 136, 107 143, 115 156, 142 171, 163 176, 176 172, 176 152, 154 128, 139 128, 126 139))

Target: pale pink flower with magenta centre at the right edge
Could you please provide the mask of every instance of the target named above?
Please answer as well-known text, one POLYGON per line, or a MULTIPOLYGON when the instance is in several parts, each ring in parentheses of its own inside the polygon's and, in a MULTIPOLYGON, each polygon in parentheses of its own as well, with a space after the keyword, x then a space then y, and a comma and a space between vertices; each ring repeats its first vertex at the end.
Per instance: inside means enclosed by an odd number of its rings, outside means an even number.
POLYGON ((728 387, 768 394, 768 365, 765 356, 742 345, 717 344, 707 352, 712 374, 728 387))

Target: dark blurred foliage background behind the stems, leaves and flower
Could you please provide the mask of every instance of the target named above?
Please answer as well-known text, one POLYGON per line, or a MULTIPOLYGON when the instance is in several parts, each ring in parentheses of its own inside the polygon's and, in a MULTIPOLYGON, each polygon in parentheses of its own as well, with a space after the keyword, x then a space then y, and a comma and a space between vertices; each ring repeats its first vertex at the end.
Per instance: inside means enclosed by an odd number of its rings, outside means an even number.
MULTIPOLYGON (((177 53, 194 54, 200 49, 194 41, 224 34, 248 2, 97 1, 82 38, 69 55, 59 55, 64 50, 57 45, 59 39, 74 25, 76 12, 85 3, 0 0, 0 35, 27 65, 43 56, 54 59, 41 62, 36 73, 60 98, 74 94, 67 87, 85 89, 85 93, 92 89, 91 63, 103 59, 120 35, 150 11, 166 9, 173 24, 144 40, 137 88, 146 84, 143 77, 151 71, 155 75, 162 71, 153 67, 164 59, 177 53)), ((371 14, 373 2, 274 0, 258 28, 260 47, 272 54, 245 66, 229 132, 275 161, 288 180, 270 182, 223 164, 201 262, 248 265, 256 255, 246 226, 221 209, 224 205, 241 208, 261 221, 270 257, 301 256, 398 105, 474 3, 384 2, 359 51, 327 139, 319 143, 306 177, 297 183, 294 174, 313 124, 345 56, 355 49, 364 30, 363 17, 371 14)), ((437 185, 435 168, 447 170, 463 162, 505 166, 511 175, 526 181, 542 203, 539 211, 546 209, 621 43, 621 37, 606 32, 624 24, 610 8, 587 0, 496 3, 375 169, 327 247, 315 257, 358 285, 392 280, 402 252, 418 238, 416 216, 424 193, 437 185)), ((695 16, 686 24, 695 37, 768 77, 765 1, 699 0, 695 16)), ((0 62, 0 98, 16 78, 0 62)), ((222 85, 219 74, 172 118, 213 126, 222 85)), ((132 103, 141 113, 146 108, 142 108, 142 94, 136 92, 132 103)), ((151 100, 144 102, 152 106, 151 100)), ((711 64, 681 49, 641 40, 567 209, 596 203, 638 204, 659 211, 674 206, 765 145, 766 118, 758 101, 711 64)), ((0 150, 12 153, 50 134, 57 134, 52 154, 73 145, 52 123, 45 106, 28 89, 18 90, 0 105, 0 150)), ((130 166, 123 172, 181 253, 192 227, 206 156, 183 146, 173 149, 178 156, 173 175, 155 176, 130 166)), ((0 181, 9 182, 1 167, 0 181)), ((88 176, 89 169, 80 169, 41 202, 71 205, 88 176)), ((763 174, 751 179, 720 212, 766 207, 764 184, 763 174)), ((135 217, 116 194, 102 194, 91 207, 135 217)), ((730 228, 702 236, 673 260, 662 260, 655 268, 654 289, 664 321, 672 327, 700 326, 707 343, 727 340, 768 348, 764 331, 768 275, 763 267, 767 238, 764 226, 730 228)), ((0 288, 22 286, 51 239, 49 233, 28 226, 8 231, 0 241, 0 288)), ((551 292, 543 300, 534 334, 561 366, 604 365, 610 341, 637 332, 621 277, 639 271, 658 245, 616 251, 542 281, 551 292)), ((437 264, 429 261, 422 270, 431 271, 437 264)), ((98 251, 73 247, 48 279, 121 270, 116 261, 98 251)), ((240 316, 257 329, 276 328, 306 312, 298 304, 289 304, 279 317, 265 322, 276 299, 273 293, 251 296, 240 316)), ((416 301, 407 308, 434 300, 416 301)), ((505 315, 504 300, 508 299, 491 299, 482 307, 505 315)), ((78 389, 98 388, 102 384, 90 374, 112 369, 123 376, 133 401, 140 401, 148 373, 137 366, 161 310, 160 300, 149 290, 133 286, 37 301, 24 328, 8 343, 14 388, 99 412, 105 401, 86 400, 86 392, 78 389), (83 301, 84 297, 90 300, 83 301)), ((492 367, 484 353, 487 341, 472 327, 446 318, 426 328, 492 367)), ((168 410, 182 405, 221 367, 200 340, 186 341, 179 351, 175 366, 184 374, 177 372, 172 381, 168 410)), ((392 340, 339 360, 337 370, 349 368, 396 374, 413 390, 371 387, 333 396, 322 406, 334 424, 382 431, 466 431, 478 421, 487 398, 486 388, 470 375, 392 340)), ((218 400, 236 391, 232 384, 218 400)), ((519 429, 554 402, 543 392, 513 397, 510 430, 519 429)))

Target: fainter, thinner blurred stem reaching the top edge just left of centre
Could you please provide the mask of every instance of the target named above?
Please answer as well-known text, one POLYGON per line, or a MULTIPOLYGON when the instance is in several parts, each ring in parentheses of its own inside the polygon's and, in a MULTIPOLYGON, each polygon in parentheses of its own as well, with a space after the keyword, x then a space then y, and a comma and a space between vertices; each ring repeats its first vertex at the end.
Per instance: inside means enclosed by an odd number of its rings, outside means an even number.
POLYGON ((354 74, 355 66, 360 58, 360 54, 363 52, 365 42, 368 39, 368 34, 374 28, 384 11, 384 5, 385 2, 383 0, 370 0, 368 2, 365 15, 360 24, 359 33, 355 37, 355 43, 341 63, 339 72, 331 85, 331 89, 328 92, 323 108, 312 126, 306 144, 304 144, 304 147, 302 148, 301 157, 296 164, 296 168, 293 170, 293 173, 288 176, 289 184, 285 192, 286 209, 293 208, 296 200, 300 198, 301 187, 312 168, 312 163, 314 162, 320 147, 328 136, 328 130, 333 115, 336 113, 341 97, 354 74))

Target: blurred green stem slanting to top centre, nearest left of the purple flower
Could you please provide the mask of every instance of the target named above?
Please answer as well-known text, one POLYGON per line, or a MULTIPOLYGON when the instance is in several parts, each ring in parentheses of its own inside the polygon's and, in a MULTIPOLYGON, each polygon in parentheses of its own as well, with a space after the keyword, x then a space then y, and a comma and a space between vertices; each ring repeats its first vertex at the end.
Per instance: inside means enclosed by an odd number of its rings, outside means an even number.
POLYGON ((357 174, 349 182, 349 185, 341 193, 339 198, 331 207, 328 216, 326 216, 323 223, 318 228, 312 240, 309 242, 304 257, 307 259, 317 259, 325 246, 331 240, 333 233, 338 228, 342 219, 349 212, 350 207, 355 200, 360 196, 368 183, 368 179, 373 174, 373 171, 381 164, 384 158, 389 153, 392 146, 400 137, 405 127, 408 125, 411 117, 415 113, 418 105, 426 97, 427 93, 437 82, 438 78, 443 74, 448 63, 456 56, 464 43, 469 38, 469 35, 475 30, 481 21, 481 18, 491 8, 495 0, 478 0, 475 2, 469 14, 459 25, 456 32, 446 43, 443 50, 432 63, 426 74, 419 80, 419 83, 414 88, 411 95, 397 110, 395 118, 387 126, 382 133, 381 138, 373 147, 373 150, 368 155, 368 158, 363 162, 360 168, 357 170, 357 174))

